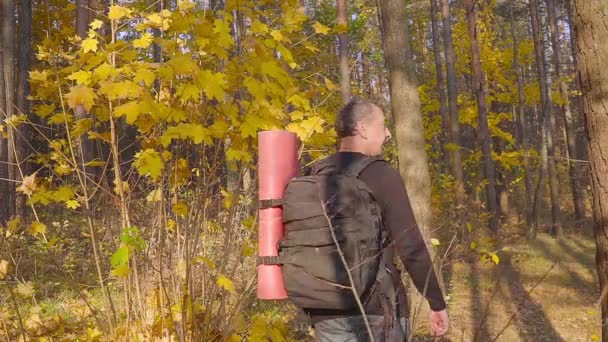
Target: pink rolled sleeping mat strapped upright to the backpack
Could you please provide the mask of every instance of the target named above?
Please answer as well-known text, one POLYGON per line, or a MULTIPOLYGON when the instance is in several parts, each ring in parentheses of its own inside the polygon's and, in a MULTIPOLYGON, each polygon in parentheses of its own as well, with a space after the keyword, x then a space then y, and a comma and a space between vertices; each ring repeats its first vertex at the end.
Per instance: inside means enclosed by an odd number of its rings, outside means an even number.
POLYGON ((278 242, 285 234, 280 206, 287 182, 298 174, 298 138, 287 131, 258 133, 258 287, 259 299, 285 299, 281 266, 260 264, 260 259, 278 256, 278 242))

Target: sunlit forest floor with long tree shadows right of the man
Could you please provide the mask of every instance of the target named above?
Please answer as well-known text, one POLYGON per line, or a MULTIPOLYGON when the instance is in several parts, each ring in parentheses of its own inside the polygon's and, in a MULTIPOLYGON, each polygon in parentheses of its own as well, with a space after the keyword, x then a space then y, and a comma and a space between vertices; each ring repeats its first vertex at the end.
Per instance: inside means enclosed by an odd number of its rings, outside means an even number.
MULTIPOLYGON (((590 230, 503 243, 500 262, 451 264, 451 318, 442 341, 599 341, 599 290, 590 230)), ((426 318, 423 314, 421 318, 426 318)), ((431 341, 425 319, 416 341, 431 341)))

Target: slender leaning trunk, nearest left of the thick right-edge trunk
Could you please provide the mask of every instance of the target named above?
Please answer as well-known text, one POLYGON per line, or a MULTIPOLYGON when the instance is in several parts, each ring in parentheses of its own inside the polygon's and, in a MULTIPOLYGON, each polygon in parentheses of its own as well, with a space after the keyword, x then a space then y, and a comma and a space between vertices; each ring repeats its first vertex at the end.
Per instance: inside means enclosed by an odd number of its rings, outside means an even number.
POLYGON ((557 18, 555 15, 555 1, 546 0, 547 13, 549 19, 549 31, 551 32, 551 45, 553 47, 553 64, 555 67, 555 76, 557 82, 559 82, 559 92, 563 101, 561 105, 562 117, 564 120, 564 130, 566 133, 566 144, 567 144, 567 157, 568 157, 568 174, 570 176, 570 187, 572 188, 572 200, 574 204, 574 217, 577 222, 581 222, 585 219, 585 206, 582 193, 582 187, 580 186, 579 179, 580 170, 578 164, 573 161, 576 159, 576 136, 574 133, 572 111, 570 108, 570 96, 568 95, 568 86, 561 77, 561 57, 559 54, 559 32, 557 30, 557 18))

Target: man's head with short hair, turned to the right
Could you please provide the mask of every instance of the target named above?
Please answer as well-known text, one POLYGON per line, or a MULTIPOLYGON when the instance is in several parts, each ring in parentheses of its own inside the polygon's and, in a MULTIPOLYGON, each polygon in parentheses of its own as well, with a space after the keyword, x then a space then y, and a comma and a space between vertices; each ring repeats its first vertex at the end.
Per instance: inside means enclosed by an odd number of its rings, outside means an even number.
POLYGON ((391 138, 384 125, 384 113, 372 102, 351 99, 336 116, 340 151, 360 152, 370 156, 382 153, 382 145, 391 138))

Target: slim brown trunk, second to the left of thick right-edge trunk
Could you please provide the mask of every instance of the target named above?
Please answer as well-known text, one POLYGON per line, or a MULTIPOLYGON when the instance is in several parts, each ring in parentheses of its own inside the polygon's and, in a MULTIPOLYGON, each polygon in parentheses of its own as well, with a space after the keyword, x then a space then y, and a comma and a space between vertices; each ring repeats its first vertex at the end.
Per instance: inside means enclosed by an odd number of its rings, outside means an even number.
POLYGON ((537 0, 530 0, 530 17, 532 20, 532 36, 534 39, 534 52, 536 56, 536 68, 540 84, 542 123, 549 123, 546 127, 544 139, 547 140, 547 167, 549 172, 549 192, 551 197, 551 234, 561 236, 562 224, 559 208, 559 189, 557 181, 557 170, 555 166, 555 146, 553 136, 555 132, 555 118, 551 113, 551 98, 549 96, 549 85, 547 84, 547 72, 545 71, 545 51, 543 48, 543 33, 540 29, 537 0))

